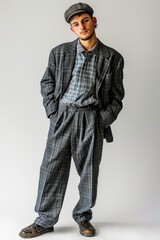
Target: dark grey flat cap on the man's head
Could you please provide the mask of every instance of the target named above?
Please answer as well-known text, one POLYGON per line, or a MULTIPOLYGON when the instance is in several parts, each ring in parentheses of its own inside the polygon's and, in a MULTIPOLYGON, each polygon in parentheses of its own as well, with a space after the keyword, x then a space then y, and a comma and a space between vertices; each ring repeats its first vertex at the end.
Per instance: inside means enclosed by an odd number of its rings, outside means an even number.
POLYGON ((93 14, 93 9, 86 3, 76 3, 70 6, 67 11, 64 13, 65 20, 69 22, 70 18, 78 13, 88 12, 93 14))

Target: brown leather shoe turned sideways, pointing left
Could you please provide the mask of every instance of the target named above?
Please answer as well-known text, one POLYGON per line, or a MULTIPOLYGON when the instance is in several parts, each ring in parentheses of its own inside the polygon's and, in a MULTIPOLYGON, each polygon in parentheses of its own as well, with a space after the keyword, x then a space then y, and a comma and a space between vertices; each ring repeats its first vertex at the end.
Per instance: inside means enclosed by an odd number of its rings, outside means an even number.
POLYGON ((53 232, 53 230, 54 230, 53 227, 44 228, 33 223, 28 227, 23 228, 22 231, 19 233, 19 236, 22 238, 34 238, 47 232, 53 232))

